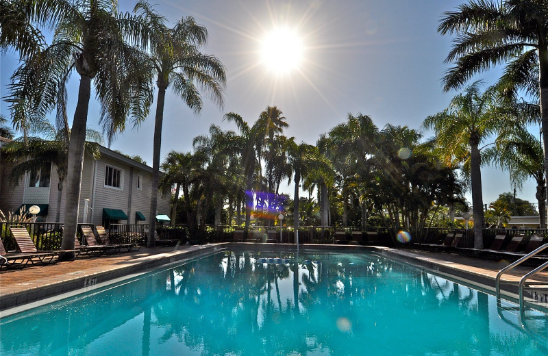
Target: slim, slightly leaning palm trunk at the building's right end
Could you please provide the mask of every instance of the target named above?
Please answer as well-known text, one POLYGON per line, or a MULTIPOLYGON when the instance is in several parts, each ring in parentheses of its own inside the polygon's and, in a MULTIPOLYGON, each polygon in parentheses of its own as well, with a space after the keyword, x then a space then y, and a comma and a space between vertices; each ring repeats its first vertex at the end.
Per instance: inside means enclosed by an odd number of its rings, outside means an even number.
POLYGON ((160 149, 162 148, 162 124, 164 122, 164 101, 166 88, 158 88, 158 103, 156 103, 156 118, 154 124, 154 143, 152 153, 152 183, 150 191, 150 223, 147 247, 154 247, 154 231, 156 229, 156 209, 158 207, 158 181, 160 180, 160 149))

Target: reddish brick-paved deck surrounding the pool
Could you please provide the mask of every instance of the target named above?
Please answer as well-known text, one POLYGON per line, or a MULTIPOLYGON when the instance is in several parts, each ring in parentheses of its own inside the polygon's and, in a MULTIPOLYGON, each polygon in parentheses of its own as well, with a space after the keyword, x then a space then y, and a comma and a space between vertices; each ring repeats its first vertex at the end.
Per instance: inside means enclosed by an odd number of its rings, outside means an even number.
MULTIPOLYGON (((253 246, 253 250, 261 249, 256 244, 237 244, 238 246, 253 246)), ((43 298, 58 296, 66 292, 86 291, 114 279, 147 272, 160 266, 176 264, 186 259, 199 257, 203 254, 221 251, 232 244, 208 244, 203 246, 157 247, 155 249, 141 248, 136 252, 102 255, 98 257, 78 257, 72 262, 58 262, 49 266, 28 264, 21 270, 0 271, 0 310, 20 307, 43 298)), ((271 247, 280 246, 269 244, 271 247)), ((282 245, 287 249, 290 245, 282 245)), ((294 245, 293 245, 294 246, 294 245)), ((330 251, 356 251, 359 246, 312 245, 303 246, 303 250, 319 248, 330 251), (331 247, 330 247, 331 246, 331 247)), ((369 248, 371 249, 371 248, 369 248)), ((462 283, 478 285, 479 288, 493 292, 495 277, 501 268, 508 266, 508 261, 495 261, 464 257, 452 253, 436 253, 410 249, 378 248, 379 253, 386 257, 401 259, 426 270, 431 270, 443 276, 455 277, 462 283)), ((303 251, 304 252, 304 251, 303 251)), ((518 266, 503 275, 502 281, 505 294, 515 297, 516 282, 533 267, 518 266), (512 295, 513 294, 513 295, 512 295)), ((530 281, 538 281, 548 285, 548 270, 540 272, 530 281)), ((536 292, 536 302, 542 308, 548 308, 548 289, 539 288, 536 292)), ((531 293, 530 295, 532 295, 531 293)))

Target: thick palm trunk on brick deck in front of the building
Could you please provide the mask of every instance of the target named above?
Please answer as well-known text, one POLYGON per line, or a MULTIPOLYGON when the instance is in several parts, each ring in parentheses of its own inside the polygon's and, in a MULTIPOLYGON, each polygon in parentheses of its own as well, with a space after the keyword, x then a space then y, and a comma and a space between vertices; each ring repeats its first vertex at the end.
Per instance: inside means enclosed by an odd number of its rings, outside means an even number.
MULTIPOLYGON (((80 183, 84 168, 84 144, 86 143, 86 125, 88 124, 88 106, 91 94, 91 77, 80 75, 78 102, 74 113, 71 138, 69 140, 69 163, 66 181, 66 205, 64 208, 64 230, 61 240, 62 250, 73 250, 78 227, 78 205, 80 201, 80 183)), ((60 253, 60 260, 74 259, 75 253, 60 253)))

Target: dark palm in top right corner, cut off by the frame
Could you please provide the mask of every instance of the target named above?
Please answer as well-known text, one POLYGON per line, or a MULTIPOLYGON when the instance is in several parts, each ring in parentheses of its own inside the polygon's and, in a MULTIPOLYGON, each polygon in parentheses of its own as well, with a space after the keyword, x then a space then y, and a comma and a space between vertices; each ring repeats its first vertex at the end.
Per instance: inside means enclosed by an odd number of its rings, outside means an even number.
POLYGON ((458 36, 446 59, 456 61, 443 79, 446 91, 506 62, 507 90, 521 88, 539 100, 548 177, 548 0, 471 1, 446 12, 438 31, 458 36))

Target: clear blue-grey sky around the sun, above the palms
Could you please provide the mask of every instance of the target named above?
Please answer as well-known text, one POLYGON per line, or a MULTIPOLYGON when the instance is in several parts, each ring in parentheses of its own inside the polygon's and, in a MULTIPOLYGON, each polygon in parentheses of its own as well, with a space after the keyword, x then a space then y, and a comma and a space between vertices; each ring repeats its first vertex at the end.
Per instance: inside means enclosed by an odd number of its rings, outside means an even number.
MULTIPOLYGON (((131 11, 134 0, 122 0, 131 11)), ((382 128, 387 123, 419 129, 423 119, 447 107, 457 92, 444 93, 440 79, 449 65, 443 61, 451 36, 436 31, 443 12, 457 0, 156 0, 155 9, 174 24, 194 16, 209 31, 204 52, 227 68, 225 105, 205 98, 198 116, 173 93, 166 96, 162 159, 171 150, 191 151, 192 138, 208 132, 211 124, 234 129, 223 114, 236 112, 253 122, 267 105, 279 107, 289 123, 287 136, 315 144, 321 133, 346 120, 347 114, 367 114, 382 128), (261 62, 261 41, 273 28, 288 27, 299 34, 303 60, 297 70, 274 75, 261 62)), ((5 97, 17 61, 13 53, 1 58, 0 94, 5 97)), ((500 71, 478 78, 490 84, 500 71)), ((77 75, 69 90, 69 116, 77 100, 77 75)), ((97 128, 99 107, 90 105, 88 123, 97 128)), ((8 105, 0 103, 9 117, 8 105)), ((128 129, 112 143, 130 155, 152 161, 155 103, 149 118, 128 129)), ((425 138, 432 132, 424 132, 425 138)), ((486 142, 488 143, 488 142, 486 142)), ((508 173, 482 169, 484 203, 509 192, 508 173)), ((286 188, 291 192, 292 188, 286 188)), ((533 181, 521 199, 536 203, 533 181)), ((471 202, 471 195, 467 194, 471 202)))

